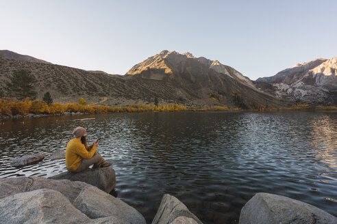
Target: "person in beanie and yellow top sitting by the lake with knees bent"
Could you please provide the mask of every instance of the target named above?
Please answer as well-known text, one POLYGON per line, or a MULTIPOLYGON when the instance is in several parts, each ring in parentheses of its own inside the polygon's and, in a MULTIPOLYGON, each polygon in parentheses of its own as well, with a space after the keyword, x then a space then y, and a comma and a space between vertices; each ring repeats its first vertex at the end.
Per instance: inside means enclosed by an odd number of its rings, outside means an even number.
POLYGON ((73 173, 79 173, 94 165, 92 168, 110 167, 104 158, 96 152, 99 141, 92 145, 86 143, 86 129, 77 127, 73 131, 74 139, 66 145, 66 169, 73 173))

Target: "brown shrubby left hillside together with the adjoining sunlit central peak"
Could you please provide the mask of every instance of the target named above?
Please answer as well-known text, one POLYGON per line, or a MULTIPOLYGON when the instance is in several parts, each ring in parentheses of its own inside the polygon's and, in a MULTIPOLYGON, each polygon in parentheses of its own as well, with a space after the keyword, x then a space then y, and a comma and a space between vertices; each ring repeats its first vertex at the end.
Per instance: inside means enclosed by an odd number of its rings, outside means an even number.
MULTIPOLYGON (((50 92, 54 102, 84 97, 99 104, 178 103, 188 107, 283 107, 284 100, 266 94, 234 68, 190 53, 162 51, 124 76, 86 71, 44 62, 0 57, 0 81, 14 70, 29 70, 38 98, 50 92)), ((0 84, 1 85, 1 84, 0 84)))

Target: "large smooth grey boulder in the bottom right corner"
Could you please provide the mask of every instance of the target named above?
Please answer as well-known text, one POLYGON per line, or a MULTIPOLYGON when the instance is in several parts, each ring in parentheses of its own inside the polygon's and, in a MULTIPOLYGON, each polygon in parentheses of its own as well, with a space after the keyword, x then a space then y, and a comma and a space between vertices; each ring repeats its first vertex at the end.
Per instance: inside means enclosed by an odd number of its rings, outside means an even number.
POLYGON ((239 221, 239 224, 254 223, 333 224, 337 218, 289 197, 257 193, 243 206, 239 221))

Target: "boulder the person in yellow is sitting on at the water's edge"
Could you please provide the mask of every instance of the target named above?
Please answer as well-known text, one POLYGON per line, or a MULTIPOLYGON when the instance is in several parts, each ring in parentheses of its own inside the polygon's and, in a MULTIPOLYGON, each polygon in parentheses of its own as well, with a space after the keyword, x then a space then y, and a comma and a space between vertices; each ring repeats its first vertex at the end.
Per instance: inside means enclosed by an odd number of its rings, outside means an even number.
POLYGON ((64 172, 51 177, 51 179, 86 182, 92 186, 97 186, 106 193, 110 193, 116 185, 116 174, 111 167, 87 169, 80 173, 64 172))

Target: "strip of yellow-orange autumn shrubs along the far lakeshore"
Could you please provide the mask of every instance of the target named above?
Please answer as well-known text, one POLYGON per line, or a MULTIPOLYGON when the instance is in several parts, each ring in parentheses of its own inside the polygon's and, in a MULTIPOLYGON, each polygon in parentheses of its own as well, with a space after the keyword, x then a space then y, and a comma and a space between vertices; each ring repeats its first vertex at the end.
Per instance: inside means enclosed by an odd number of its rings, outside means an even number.
POLYGON ((214 106, 203 108, 185 107, 179 104, 134 104, 129 107, 111 107, 106 105, 86 104, 84 98, 79 98, 78 102, 66 104, 47 103, 41 100, 16 100, 0 98, 0 119, 22 118, 22 117, 45 117, 51 115, 66 114, 99 114, 99 113, 135 113, 148 111, 260 111, 260 112, 277 112, 277 111, 330 111, 337 112, 336 106, 311 106, 310 104, 297 104, 285 108, 268 108, 260 107, 259 109, 247 110, 229 108, 226 106, 214 106))

